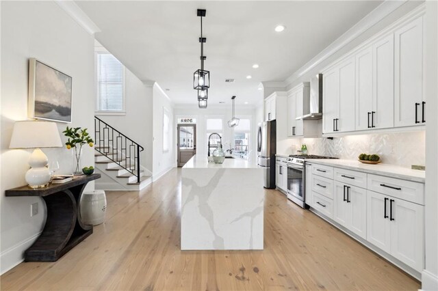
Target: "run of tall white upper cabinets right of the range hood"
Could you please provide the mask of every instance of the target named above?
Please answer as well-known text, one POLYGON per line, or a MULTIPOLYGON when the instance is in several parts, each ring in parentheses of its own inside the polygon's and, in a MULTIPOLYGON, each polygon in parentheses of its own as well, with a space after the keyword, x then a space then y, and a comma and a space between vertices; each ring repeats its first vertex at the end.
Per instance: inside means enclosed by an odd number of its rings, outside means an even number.
POLYGON ((420 14, 400 20, 323 70, 323 134, 426 123, 420 14))

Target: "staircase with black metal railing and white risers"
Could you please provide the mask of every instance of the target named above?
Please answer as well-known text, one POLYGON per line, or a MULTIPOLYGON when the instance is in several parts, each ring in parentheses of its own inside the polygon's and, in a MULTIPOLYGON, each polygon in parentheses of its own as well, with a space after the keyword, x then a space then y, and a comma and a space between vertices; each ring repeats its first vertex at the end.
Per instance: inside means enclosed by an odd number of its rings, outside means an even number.
POLYGON ((140 191, 152 182, 151 173, 142 169, 140 154, 144 150, 138 143, 94 116, 94 162, 103 182, 96 188, 103 190, 140 191), (111 185, 104 189, 104 183, 111 185))

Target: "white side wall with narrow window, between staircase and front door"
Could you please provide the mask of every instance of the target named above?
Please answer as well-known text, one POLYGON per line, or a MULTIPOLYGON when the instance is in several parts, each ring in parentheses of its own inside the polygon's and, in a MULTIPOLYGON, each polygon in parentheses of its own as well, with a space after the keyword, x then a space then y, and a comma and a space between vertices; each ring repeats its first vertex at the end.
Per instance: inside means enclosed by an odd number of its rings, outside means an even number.
POLYGON ((175 128, 173 105, 166 93, 157 83, 153 85, 153 180, 157 180, 160 176, 166 173, 172 167, 177 166, 177 158, 175 154, 175 128), (163 151, 163 114, 164 109, 169 113, 170 117, 170 146, 168 152, 163 151))

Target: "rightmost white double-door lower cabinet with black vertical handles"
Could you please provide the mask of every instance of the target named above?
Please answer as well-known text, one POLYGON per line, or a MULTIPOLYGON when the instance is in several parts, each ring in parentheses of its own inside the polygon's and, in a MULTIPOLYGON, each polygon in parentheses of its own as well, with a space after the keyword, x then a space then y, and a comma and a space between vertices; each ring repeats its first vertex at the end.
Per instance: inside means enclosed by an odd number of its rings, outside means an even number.
POLYGON ((367 191, 367 240, 421 272, 424 268, 424 206, 367 191))

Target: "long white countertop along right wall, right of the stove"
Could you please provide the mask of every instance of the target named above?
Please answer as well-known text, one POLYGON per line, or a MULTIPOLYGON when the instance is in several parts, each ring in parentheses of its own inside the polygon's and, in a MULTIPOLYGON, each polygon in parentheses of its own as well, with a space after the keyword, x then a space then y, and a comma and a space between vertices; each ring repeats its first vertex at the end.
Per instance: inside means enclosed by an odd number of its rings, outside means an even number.
POLYGON ((356 171, 363 171, 369 174, 376 174, 381 176, 387 176, 392 178, 400 178, 404 180, 410 180, 413 182, 424 183, 426 178, 426 171, 409 169, 405 167, 387 165, 387 164, 363 164, 355 160, 343 160, 343 159, 324 159, 324 158, 312 158, 307 160, 309 163, 315 163, 320 165, 329 165, 333 167, 339 167, 344 169, 352 169, 356 171))

